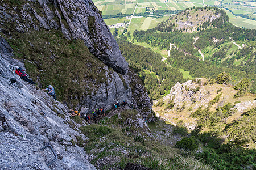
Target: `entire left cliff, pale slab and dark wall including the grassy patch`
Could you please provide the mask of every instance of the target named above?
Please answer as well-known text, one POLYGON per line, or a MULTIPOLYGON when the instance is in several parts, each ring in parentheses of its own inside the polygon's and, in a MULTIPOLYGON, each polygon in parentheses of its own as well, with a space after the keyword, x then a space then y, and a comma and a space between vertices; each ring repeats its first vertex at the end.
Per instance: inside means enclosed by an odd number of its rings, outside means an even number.
POLYGON ((146 128, 143 118, 154 121, 146 89, 92 1, 3 1, 0 9, 0 169, 96 169, 76 145, 88 138, 67 105, 91 113, 126 100, 146 128), (15 65, 26 67, 39 87, 52 84, 65 104, 18 76, 9 85, 15 65), (55 155, 40 150, 47 144, 57 154, 49 167, 55 155))

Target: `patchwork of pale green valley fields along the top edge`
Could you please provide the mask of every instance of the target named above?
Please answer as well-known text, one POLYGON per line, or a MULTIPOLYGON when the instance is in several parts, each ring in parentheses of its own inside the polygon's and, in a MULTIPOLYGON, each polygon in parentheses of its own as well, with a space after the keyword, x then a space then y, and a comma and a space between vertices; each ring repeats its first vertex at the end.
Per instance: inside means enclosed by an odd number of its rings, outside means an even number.
MULTIPOLYGON (((119 13, 122 14, 133 14, 137 0, 93 0, 94 4, 98 8, 98 10, 102 11, 102 15, 117 15, 119 13)), ((249 2, 249 1, 241 1, 241 0, 223 0, 220 3, 220 0, 189 0, 189 1, 181 1, 181 0, 168 0, 164 3, 163 0, 139 0, 137 8, 135 10, 136 14, 143 14, 146 11, 155 11, 155 10, 185 10, 186 8, 191 8, 193 6, 196 7, 203 7, 206 5, 222 5, 232 12, 237 14, 248 15, 251 18, 256 18, 256 2, 249 2), (203 5, 204 2, 204 5, 203 5)), ((230 11, 225 10, 226 14, 229 16, 229 21, 237 25, 241 28, 249 28, 255 29, 256 28, 256 21, 252 19, 246 19, 238 16, 234 16, 230 11)), ((161 20, 161 19, 160 19, 161 20)), ((108 21, 105 20, 106 23, 109 25, 108 21)), ((113 19, 114 23, 116 19, 113 19)), ((121 21, 118 21, 121 22, 121 21)), ((148 19, 133 19, 131 25, 131 33, 134 32, 135 29, 148 29, 155 27, 156 24, 159 23, 159 20, 148 18, 148 19)))

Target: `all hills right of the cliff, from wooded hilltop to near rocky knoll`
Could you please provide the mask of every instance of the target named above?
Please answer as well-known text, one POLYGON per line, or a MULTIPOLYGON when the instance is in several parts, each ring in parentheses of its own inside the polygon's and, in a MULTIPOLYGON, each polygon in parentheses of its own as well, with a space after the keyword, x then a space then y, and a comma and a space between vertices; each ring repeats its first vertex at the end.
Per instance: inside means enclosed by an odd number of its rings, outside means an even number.
POLYGON ((255 95, 247 93, 256 92, 255 30, 235 27, 223 10, 204 7, 135 31, 135 41, 120 37, 123 56, 151 98, 164 96, 154 111, 183 136, 176 148, 214 169, 255 169, 255 95), (156 48, 168 57, 152 52, 156 48), (159 71, 168 69, 175 74, 159 71), (191 81, 185 82, 184 70, 191 81))

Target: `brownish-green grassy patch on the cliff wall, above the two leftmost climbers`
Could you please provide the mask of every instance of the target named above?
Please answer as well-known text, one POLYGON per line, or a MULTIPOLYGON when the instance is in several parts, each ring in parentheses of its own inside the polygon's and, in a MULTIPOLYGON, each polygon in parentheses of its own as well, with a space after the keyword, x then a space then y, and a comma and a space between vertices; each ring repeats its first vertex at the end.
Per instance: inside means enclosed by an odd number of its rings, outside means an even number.
POLYGON ((16 33, 6 39, 32 79, 38 80, 40 88, 52 84, 58 100, 76 105, 77 99, 106 80, 104 64, 90 54, 82 40, 67 40, 55 30, 16 33), (88 63, 90 66, 85 67, 88 63))

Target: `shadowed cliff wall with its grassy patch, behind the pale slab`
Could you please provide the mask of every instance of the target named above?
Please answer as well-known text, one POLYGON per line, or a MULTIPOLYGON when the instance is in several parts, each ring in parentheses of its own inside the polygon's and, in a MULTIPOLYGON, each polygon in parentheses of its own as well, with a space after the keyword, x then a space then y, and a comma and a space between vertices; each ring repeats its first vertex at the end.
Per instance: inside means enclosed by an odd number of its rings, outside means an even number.
MULTIPOLYGON (((92 1, 24 0, 2 2, 0 8, 2 35, 16 49, 14 56, 22 56, 20 59, 27 63, 27 72, 34 80, 37 79, 39 87, 52 84, 57 96, 67 103, 77 101, 71 107, 84 113, 91 113, 93 108, 98 107, 108 110, 113 107, 114 101, 127 100, 144 118, 152 120, 146 89, 139 83, 138 76, 129 70, 117 42, 92 1), (54 30, 58 32, 57 36, 59 32, 63 34, 67 41, 61 43, 63 38, 60 36, 57 39, 54 30), (89 52, 101 62, 88 57, 90 54, 86 52, 84 58, 72 60, 77 52, 74 48, 77 42, 68 43, 73 39, 83 40, 89 52), (72 53, 69 53, 69 48, 72 53), (45 67, 43 62, 46 62, 45 67), (62 66, 61 70, 57 65, 62 66), (72 68, 74 66, 76 71, 72 68), (63 67, 71 71, 61 77, 63 67), (49 74, 52 76, 47 78, 49 74), (59 75, 56 77, 56 74, 59 75), (70 79, 64 82, 67 74, 70 79)), ((1 52, 11 54, 13 49, 4 40, 2 42, 1 46, 5 46, 6 50, 2 48, 1 52)))

